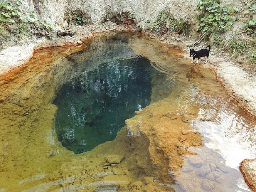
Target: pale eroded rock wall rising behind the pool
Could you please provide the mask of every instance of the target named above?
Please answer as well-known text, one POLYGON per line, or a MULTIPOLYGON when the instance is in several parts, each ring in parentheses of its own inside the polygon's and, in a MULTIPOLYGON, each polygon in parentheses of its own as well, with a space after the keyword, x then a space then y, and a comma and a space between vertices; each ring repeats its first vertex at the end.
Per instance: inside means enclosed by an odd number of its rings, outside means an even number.
MULTIPOLYGON (((183 18, 196 24, 195 14, 198 0, 22 0, 22 9, 34 11, 39 17, 61 28, 66 25, 66 21, 75 20, 82 16, 90 23, 102 23, 105 19, 121 13, 135 15, 135 21, 142 29, 156 20, 160 11, 168 10, 176 18, 183 18), (147 20, 151 20, 147 23, 147 20)), ((238 0, 222 0, 221 3, 230 4, 241 8, 242 4, 238 0)))

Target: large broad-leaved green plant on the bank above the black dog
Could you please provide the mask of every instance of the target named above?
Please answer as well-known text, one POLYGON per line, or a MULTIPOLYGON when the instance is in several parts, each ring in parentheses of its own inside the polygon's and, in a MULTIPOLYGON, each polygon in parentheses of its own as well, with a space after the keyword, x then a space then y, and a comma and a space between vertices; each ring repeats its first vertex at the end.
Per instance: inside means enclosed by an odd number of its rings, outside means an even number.
POLYGON ((220 8, 219 0, 199 0, 197 9, 202 13, 197 15, 198 31, 205 33, 212 31, 224 32, 230 28, 236 20, 235 13, 238 11, 234 6, 220 8))

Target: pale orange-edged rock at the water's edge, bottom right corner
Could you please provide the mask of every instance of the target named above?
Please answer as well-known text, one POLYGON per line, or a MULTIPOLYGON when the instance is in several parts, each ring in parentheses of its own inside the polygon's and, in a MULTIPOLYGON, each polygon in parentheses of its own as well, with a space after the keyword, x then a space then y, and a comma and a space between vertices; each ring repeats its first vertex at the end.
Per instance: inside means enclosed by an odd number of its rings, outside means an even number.
POLYGON ((245 159, 240 163, 239 167, 241 173, 244 176, 246 184, 250 190, 256 191, 256 159, 245 159))

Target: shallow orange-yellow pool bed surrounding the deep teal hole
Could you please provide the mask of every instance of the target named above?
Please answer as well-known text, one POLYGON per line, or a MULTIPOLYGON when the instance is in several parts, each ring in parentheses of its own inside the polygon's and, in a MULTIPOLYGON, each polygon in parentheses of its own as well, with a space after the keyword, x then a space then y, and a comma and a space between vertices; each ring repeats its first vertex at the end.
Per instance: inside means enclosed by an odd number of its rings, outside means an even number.
POLYGON ((127 41, 172 85, 152 77, 151 104, 90 152, 61 145, 52 102, 76 75, 66 56, 93 41, 36 51, 0 76, 0 191, 248 191, 238 166, 255 157, 252 118, 178 48, 140 35, 127 41))

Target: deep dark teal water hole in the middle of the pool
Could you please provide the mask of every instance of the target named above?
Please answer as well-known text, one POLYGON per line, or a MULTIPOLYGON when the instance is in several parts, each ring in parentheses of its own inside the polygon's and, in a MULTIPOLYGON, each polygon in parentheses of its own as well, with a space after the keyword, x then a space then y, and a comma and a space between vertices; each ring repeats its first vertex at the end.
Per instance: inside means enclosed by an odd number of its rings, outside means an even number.
POLYGON ((83 60, 88 50, 69 57, 72 70, 79 73, 63 84, 54 100, 58 139, 76 154, 114 140, 125 119, 150 104, 150 76, 156 73, 150 61, 121 39, 108 39, 105 44, 101 61, 97 53, 83 60))

